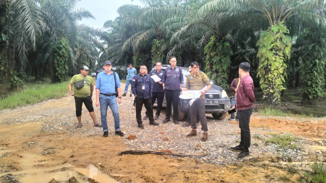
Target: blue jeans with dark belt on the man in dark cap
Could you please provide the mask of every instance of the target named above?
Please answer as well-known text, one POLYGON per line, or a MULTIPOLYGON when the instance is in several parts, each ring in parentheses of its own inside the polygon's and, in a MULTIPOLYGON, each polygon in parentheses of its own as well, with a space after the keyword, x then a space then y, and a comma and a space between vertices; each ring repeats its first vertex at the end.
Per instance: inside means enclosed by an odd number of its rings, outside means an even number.
POLYGON ((120 131, 120 117, 119 117, 119 111, 118 111, 118 104, 117 99, 115 98, 115 95, 113 96, 99 96, 99 102, 100 102, 100 110, 101 110, 101 122, 103 126, 103 132, 108 131, 108 123, 107 123, 107 112, 108 112, 108 106, 110 106, 110 109, 112 111, 112 115, 114 118, 114 128, 115 131, 120 131))

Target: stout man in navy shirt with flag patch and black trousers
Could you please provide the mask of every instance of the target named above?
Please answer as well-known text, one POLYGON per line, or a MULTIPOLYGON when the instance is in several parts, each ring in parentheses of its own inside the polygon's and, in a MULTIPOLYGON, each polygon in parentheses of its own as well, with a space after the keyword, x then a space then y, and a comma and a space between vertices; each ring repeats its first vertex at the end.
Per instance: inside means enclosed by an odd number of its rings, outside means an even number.
POLYGON ((144 128, 141 121, 141 109, 142 105, 145 106, 150 125, 158 125, 153 118, 153 106, 152 106, 152 93, 153 93, 153 82, 152 78, 146 74, 146 65, 141 65, 139 74, 134 76, 131 81, 131 90, 135 96, 136 103, 136 120, 138 128, 144 128))

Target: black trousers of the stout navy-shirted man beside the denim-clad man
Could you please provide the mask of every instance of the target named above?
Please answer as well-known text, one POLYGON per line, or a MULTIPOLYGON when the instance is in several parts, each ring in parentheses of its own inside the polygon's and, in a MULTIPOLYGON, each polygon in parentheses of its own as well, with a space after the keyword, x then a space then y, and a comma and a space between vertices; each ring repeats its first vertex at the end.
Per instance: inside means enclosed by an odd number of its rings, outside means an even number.
POLYGON ((142 123, 142 121, 141 121, 142 105, 144 105, 146 110, 147 110, 149 122, 150 123, 154 122, 153 106, 152 106, 152 99, 151 98, 143 99, 143 98, 136 97, 135 104, 136 104, 136 120, 137 120, 138 124, 142 123))

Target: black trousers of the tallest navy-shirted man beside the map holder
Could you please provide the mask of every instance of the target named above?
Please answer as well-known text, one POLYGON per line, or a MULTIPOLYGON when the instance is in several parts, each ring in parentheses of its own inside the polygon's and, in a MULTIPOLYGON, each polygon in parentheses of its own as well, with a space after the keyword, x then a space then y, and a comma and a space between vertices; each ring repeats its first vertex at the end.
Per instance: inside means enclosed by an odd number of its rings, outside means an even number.
POLYGON ((180 90, 165 90, 166 98, 166 119, 170 119, 171 116, 171 104, 173 104, 173 120, 178 118, 178 101, 180 90))

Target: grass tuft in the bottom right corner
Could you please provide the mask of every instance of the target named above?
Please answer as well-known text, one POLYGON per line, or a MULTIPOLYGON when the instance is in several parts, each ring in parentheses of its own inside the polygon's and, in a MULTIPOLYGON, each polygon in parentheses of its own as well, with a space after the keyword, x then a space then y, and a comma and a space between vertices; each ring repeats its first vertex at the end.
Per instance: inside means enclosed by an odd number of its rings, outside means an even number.
POLYGON ((325 183, 326 182, 326 166, 323 162, 314 162, 310 165, 312 171, 305 171, 300 175, 301 183, 325 183))

